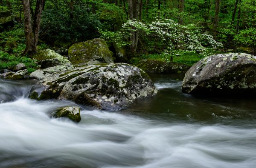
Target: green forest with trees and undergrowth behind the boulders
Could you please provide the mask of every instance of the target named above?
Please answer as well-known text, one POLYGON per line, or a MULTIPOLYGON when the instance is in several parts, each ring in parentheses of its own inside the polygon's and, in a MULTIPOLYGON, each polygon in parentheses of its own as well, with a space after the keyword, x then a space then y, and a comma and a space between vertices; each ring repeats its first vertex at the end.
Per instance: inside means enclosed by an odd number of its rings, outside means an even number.
POLYGON ((211 54, 256 54, 256 0, 0 0, 0 69, 103 38, 119 62, 193 65, 211 54))

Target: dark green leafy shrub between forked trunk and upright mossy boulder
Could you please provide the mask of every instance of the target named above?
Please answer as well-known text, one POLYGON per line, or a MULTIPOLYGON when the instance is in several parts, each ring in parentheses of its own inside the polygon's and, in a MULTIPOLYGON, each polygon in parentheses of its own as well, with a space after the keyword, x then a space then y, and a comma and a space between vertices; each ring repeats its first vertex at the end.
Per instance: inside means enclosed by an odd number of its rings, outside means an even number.
POLYGON ((73 18, 70 11, 45 9, 41 20, 41 39, 53 43, 64 37, 67 41, 84 41, 98 37, 96 27, 101 23, 96 14, 89 12, 85 6, 74 6, 73 18))

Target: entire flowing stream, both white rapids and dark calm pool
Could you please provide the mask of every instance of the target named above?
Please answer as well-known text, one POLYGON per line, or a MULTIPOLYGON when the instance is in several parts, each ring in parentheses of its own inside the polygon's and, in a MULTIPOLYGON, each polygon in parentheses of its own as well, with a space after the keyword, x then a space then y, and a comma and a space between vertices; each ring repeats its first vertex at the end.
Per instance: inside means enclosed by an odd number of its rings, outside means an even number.
POLYGON ((0 168, 255 168, 256 100, 193 97, 182 75, 152 76, 158 94, 116 112, 30 100, 33 81, 0 80, 0 168))

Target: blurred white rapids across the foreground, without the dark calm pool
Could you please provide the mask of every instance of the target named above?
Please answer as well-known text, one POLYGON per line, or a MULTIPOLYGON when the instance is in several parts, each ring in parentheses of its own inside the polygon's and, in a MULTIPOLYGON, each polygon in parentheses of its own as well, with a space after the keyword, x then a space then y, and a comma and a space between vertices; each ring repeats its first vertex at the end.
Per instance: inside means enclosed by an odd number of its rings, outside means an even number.
MULTIPOLYGON (((170 87, 176 88, 174 85, 170 87)), ((48 115, 55 108, 75 103, 30 100, 27 96, 31 86, 0 81, 0 93, 9 94, 2 96, 6 100, 0 103, 0 168, 254 168, 256 165, 253 122, 236 126, 166 122, 154 116, 81 106, 81 122, 77 124, 48 115)))

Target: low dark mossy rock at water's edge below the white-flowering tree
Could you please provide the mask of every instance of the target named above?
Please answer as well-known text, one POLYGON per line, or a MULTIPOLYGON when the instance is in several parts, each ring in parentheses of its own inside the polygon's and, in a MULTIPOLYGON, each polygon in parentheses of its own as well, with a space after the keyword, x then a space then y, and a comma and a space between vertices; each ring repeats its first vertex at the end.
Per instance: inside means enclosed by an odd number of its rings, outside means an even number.
POLYGON ((189 69, 187 65, 151 59, 141 60, 137 67, 142 68, 146 72, 157 74, 185 73, 189 69))

